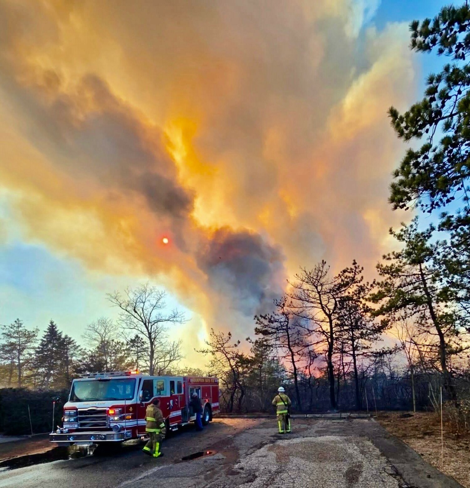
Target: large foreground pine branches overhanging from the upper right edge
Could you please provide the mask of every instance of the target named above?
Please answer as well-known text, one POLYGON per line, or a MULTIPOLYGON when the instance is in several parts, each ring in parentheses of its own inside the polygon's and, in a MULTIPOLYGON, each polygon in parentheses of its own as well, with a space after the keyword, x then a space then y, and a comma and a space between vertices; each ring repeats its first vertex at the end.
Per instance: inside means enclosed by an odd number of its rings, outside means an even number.
MULTIPOLYGON (((430 74, 425 97, 400 114, 390 108, 392 126, 405 141, 422 141, 409 149, 395 171, 393 208, 417 205, 441 210, 442 279, 462 309, 470 311, 470 8, 442 8, 434 20, 410 24, 411 48, 437 52, 451 63, 430 74)), ((468 312, 469 314, 470 312, 468 312)))

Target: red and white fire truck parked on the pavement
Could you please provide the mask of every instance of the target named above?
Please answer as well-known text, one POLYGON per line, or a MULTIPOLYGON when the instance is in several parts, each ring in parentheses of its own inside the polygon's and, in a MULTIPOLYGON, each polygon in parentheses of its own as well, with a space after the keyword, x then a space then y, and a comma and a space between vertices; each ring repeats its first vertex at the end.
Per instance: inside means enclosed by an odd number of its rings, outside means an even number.
POLYGON ((196 419, 189 405, 196 392, 207 425, 219 412, 219 380, 192 376, 149 376, 139 371, 83 374, 73 380, 63 407, 63 427, 49 440, 62 446, 119 443, 146 436, 145 410, 160 399, 167 432, 196 419))

